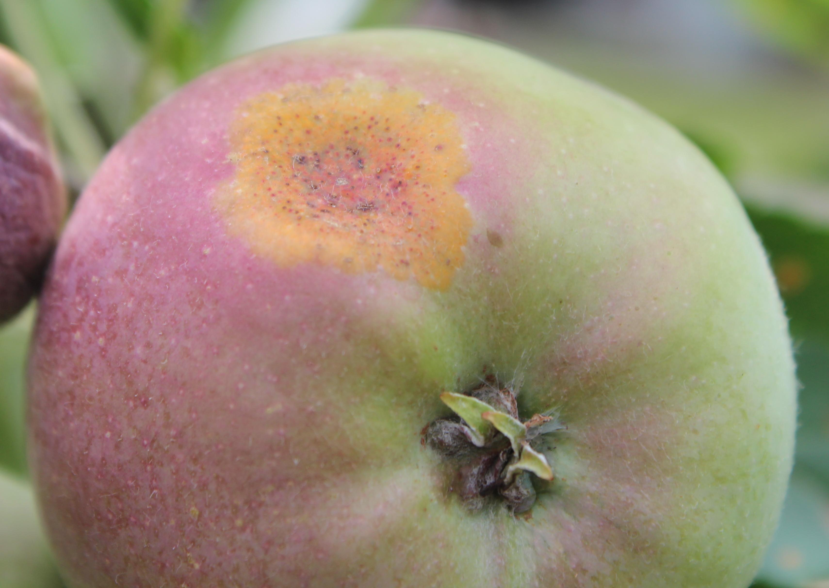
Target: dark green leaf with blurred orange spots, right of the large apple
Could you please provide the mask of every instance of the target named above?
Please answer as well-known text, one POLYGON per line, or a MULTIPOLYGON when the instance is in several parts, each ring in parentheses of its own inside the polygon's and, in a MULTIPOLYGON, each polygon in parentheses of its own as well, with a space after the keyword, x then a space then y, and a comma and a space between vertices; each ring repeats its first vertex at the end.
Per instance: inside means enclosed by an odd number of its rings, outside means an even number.
MULTIPOLYGON (((781 199, 781 202, 785 200, 781 199)), ((747 205, 786 304, 802 389, 795 468, 760 583, 829 586, 829 227, 747 205)))

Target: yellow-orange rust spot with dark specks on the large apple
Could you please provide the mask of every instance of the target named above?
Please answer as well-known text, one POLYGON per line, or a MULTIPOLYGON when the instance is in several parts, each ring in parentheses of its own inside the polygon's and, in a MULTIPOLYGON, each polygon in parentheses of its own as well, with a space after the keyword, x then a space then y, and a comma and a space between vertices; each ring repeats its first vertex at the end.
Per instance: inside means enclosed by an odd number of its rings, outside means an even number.
POLYGON ((281 266, 378 269, 445 289, 472 216, 453 113, 371 80, 288 85, 237 110, 235 175, 217 208, 230 233, 281 266))

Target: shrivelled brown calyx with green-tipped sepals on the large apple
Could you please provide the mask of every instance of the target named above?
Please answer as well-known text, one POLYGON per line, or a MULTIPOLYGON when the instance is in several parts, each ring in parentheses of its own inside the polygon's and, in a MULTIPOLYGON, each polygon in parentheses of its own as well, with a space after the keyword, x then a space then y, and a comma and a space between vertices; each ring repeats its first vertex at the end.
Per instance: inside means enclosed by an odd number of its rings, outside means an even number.
POLYGON ((564 429, 558 418, 550 412, 521 422, 516 391, 495 383, 469 393, 445 392, 440 399, 453 415, 424 427, 424 444, 453 462, 458 480, 450 489, 472 510, 491 497, 502 499, 514 513, 532 508, 533 477, 555 478, 544 452, 532 444, 564 429))

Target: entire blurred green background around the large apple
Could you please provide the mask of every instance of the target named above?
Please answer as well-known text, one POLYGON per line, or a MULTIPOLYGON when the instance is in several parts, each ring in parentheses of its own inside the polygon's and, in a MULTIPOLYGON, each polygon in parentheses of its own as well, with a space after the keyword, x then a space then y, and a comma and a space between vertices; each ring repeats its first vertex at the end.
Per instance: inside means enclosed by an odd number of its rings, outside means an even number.
MULTIPOLYGON (((662 115, 731 181, 797 345, 800 427, 755 588, 829 588, 829 0, 0 0, 0 42, 41 77, 80 193, 107 149, 181 84, 259 47, 354 27, 468 31, 662 115)), ((0 587, 60 588, 26 481, 34 309, 0 329, 0 587)))

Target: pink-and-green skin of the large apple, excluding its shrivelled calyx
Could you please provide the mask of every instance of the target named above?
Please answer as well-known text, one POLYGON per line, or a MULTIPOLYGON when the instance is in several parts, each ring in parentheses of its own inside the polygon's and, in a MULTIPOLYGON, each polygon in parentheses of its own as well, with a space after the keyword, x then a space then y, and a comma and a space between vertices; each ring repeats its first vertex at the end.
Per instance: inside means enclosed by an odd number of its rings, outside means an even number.
POLYGON ((150 113, 70 219, 29 375, 74 588, 742 588, 792 464, 787 322, 725 180, 437 31, 275 47, 150 113), (421 443, 487 374, 567 427, 521 516, 421 443))

